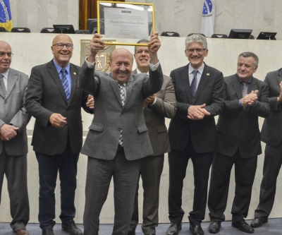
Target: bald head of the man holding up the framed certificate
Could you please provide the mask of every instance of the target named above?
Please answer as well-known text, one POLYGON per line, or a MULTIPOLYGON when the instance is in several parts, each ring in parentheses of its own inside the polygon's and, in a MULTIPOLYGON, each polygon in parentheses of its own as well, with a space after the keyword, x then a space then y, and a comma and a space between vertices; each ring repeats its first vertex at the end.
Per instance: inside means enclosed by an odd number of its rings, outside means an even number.
POLYGON ((110 56, 111 76, 118 83, 126 83, 131 76, 133 67, 133 54, 128 49, 118 48, 110 56))

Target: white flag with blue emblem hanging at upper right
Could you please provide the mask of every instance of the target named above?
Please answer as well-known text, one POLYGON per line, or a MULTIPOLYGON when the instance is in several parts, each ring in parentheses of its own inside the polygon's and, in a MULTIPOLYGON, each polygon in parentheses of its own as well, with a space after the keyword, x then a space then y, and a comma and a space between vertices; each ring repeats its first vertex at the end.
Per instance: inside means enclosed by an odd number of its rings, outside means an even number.
POLYGON ((204 34, 206 37, 212 37, 214 34, 214 1, 215 0, 204 0, 200 33, 204 34))

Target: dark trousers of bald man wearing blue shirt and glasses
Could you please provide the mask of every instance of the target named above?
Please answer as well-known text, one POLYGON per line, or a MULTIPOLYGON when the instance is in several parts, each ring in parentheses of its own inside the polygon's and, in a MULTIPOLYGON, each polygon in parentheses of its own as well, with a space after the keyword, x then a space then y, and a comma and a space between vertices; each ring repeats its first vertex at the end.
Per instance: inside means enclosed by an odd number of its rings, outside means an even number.
POLYGON ((71 152, 67 144, 61 155, 44 155, 35 152, 39 167, 39 226, 41 229, 52 229, 56 224, 55 188, 59 171, 61 188, 61 215, 63 224, 67 224, 75 217, 75 188, 79 154, 71 152))

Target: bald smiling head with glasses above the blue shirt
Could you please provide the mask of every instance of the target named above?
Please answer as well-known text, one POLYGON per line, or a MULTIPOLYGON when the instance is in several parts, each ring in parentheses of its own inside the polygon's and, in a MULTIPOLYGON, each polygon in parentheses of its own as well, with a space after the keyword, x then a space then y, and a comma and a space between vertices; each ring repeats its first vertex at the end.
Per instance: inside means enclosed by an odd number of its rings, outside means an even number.
POLYGON ((73 56, 73 40, 68 35, 57 35, 54 37, 51 50, 56 64, 65 68, 73 56))

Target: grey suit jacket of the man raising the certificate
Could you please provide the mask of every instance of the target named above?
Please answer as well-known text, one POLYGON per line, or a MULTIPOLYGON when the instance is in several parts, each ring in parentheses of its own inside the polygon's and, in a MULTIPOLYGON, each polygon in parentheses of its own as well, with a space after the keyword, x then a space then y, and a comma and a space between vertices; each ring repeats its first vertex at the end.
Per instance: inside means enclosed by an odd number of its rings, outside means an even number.
POLYGON ((160 65, 156 71, 149 70, 149 78, 145 73, 130 76, 125 87, 123 106, 118 81, 111 74, 87 68, 84 63, 78 86, 95 97, 95 115, 82 147, 82 154, 99 159, 114 159, 122 128, 126 159, 152 155, 143 115, 143 101, 158 92, 162 83, 160 65))

